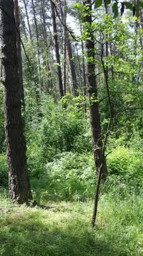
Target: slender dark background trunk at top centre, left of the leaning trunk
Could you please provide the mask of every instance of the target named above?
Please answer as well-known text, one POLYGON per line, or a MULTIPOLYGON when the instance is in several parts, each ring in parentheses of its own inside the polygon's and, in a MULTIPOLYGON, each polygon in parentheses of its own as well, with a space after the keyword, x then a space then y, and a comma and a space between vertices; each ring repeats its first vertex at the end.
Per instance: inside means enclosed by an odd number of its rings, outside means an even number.
POLYGON ((54 32, 54 41, 55 41, 55 55, 57 59, 58 65, 58 84, 59 84, 59 92, 60 96, 64 96, 63 85, 62 85, 62 70, 61 70, 61 62, 60 62, 60 55, 59 55, 59 48, 58 48, 58 33, 57 33, 57 24, 55 19, 55 5, 53 4, 52 0, 50 0, 51 9, 52 9, 52 24, 53 24, 53 32, 54 32))

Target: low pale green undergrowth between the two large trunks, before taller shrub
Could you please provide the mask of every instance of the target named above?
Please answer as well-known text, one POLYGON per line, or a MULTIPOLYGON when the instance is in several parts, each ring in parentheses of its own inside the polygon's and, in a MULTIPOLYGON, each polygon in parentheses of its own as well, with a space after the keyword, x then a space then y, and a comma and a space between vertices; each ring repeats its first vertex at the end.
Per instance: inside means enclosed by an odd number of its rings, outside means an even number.
POLYGON ((87 200, 95 190, 95 166, 91 153, 62 153, 47 163, 39 180, 32 180, 36 200, 87 200), (42 193, 43 191, 43 193, 42 193))

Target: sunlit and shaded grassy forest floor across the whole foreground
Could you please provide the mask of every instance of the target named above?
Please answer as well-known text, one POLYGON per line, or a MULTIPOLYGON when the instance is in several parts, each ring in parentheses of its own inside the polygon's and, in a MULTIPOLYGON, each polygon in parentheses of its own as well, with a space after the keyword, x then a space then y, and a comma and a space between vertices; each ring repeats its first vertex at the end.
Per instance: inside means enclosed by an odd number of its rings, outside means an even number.
POLYGON ((11 204, 0 193, 0 255, 141 256, 143 198, 102 195, 91 228, 93 202, 11 204))

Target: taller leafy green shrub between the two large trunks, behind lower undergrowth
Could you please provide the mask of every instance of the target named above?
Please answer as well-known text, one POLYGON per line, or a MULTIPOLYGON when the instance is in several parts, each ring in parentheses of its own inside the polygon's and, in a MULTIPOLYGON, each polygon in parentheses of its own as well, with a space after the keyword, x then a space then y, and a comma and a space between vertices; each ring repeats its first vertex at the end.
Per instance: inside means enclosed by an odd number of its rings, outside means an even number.
POLYGON ((40 106, 42 117, 37 122, 36 119, 32 121, 26 130, 30 169, 35 169, 37 165, 34 163, 41 161, 45 164, 65 151, 81 153, 91 150, 88 120, 83 118, 77 104, 66 104, 67 107, 63 108, 62 103, 55 103, 52 97, 43 96, 40 106))

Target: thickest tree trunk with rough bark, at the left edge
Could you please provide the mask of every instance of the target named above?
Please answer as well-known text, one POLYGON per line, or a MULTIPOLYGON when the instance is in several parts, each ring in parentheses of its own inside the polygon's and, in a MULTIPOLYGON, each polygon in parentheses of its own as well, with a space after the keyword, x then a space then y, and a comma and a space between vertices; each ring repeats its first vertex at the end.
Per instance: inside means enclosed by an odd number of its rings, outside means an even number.
POLYGON ((23 134, 21 102, 19 98, 18 56, 14 3, 0 1, 0 38, 2 84, 5 113, 5 138, 8 160, 9 198, 18 204, 28 203, 32 198, 28 180, 25 136, 23 134))

